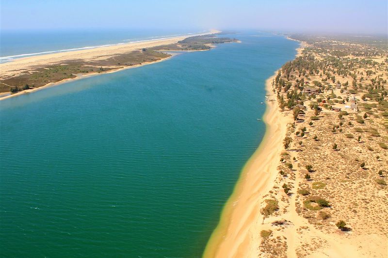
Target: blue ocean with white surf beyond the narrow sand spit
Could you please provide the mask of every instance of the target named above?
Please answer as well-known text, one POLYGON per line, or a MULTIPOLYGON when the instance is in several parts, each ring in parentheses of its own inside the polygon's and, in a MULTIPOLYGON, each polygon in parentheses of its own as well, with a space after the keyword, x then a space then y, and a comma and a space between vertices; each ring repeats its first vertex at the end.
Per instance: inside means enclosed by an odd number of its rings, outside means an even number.
POLYGON ((0 62, 39 54, 194 34, 197 30, 0 30, 0 62))

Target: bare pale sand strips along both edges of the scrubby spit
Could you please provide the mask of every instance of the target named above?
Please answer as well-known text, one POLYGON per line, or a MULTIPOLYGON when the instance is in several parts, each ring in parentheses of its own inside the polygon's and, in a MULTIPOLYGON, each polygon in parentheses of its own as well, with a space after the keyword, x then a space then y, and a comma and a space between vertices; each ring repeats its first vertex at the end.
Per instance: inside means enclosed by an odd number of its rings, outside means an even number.
MULTIPOLYGON (((187 37, 193 37, 193 36, 200 36, 200 35, 206 35, 206 34, 214 34, 221 32, 219 30, 210 30, 203 33, 198 34, 189 34, 189 35, 183 35, 179 37, 172 37, 167 39, 156 39, 156 40, 149 40, 149 41, 143 41, 143 42, 133 42, 128 44, 122 44, 122 45, 115 45, 115 46, 103 46, 103 47, 96 47, 92 49, 82 49, 82 50, 76 50, 76 51, 69 51, 69 52, 62 52, 62 53, 53 53, 53 54, 47 54, 47 55, 40 55, 40 56, 32 56, 32 57, 26 57, 26 58, 20 58, 16 59, 10 62, 1 63, 0 64, 0 78, 6 78, 9 76, 15 76, 16 74, 20 73, 28 73, 35 69, 35 67, 42 67, 49 64, 62 64, 64 61, 69 60, 99 60, 99 59, 106 59, 111 56, 120 55, 129 53, 131 51, 142 49, 142 48, 148 48, 148 47, 154 47, 154 46, 162 46, 162 45, 169 45, 169 44, 175 44, 180 40, 183 40, 187 37)), ((164 58, 158 61, 152 61, 152 62, 145 62, 142 64, 132 65, 132 66, 126 66, 119 69, 110 70, 108 72, 103 73, 113 73, 117 71, 121 71, 124 69, 130 69, 130 68, 136 68, 140 67, 146 64, 156 63, 160 61, 167 60, 169 58, 164 58)), ((90 73, 90 74, 80 74, 77 75, 75 78, 68 78, 64 79, 58 82, 51 82, 46 84, 45 86, 20 91, 15 94, 7 95, 7 96, 1 96, 0 95, 0 101, 12 97, 16 97, 22 94, 26 93, 32 93, 34 91, 40 91, 52 86, 57 86, 60 84, 63 84, 65 82, 89 77, 89 76, 96 76, 103 73, 90 73)))

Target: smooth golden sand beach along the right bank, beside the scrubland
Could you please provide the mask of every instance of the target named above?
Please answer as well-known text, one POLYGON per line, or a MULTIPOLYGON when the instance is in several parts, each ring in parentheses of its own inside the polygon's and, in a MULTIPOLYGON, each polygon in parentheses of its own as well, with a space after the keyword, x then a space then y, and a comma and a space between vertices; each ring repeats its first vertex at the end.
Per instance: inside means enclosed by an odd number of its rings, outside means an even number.
MULTIPOLYGON (((271 76, 266 81, 267 96, 276 100, 271 76)), ((241 177, 222 212, 221 220, 205 249, 205 258, 257 257, 257 223, 262 197, 274 186, 282 141, 291 117, 280 113, 277 101, 267 101, 263 116, 266 132, 259 148, 242 169, 241 177)))

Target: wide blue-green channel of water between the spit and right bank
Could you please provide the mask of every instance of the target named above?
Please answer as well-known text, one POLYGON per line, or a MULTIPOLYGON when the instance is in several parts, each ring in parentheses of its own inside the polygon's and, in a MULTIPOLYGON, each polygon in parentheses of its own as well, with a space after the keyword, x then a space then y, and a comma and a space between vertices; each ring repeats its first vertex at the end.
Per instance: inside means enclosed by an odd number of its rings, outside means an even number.
POLYGON ((297 47, 231 36, 1 101, 1 256, 200 257, 297 47))

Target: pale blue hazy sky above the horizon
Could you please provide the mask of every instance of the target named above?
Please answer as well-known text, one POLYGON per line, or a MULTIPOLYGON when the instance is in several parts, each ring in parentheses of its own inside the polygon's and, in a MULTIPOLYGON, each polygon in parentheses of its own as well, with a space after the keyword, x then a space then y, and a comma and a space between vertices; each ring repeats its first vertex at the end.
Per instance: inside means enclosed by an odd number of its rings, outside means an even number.
POLYGON ((387 33, 387 0, 0 0, 1 29, 387 33))

